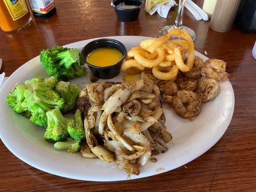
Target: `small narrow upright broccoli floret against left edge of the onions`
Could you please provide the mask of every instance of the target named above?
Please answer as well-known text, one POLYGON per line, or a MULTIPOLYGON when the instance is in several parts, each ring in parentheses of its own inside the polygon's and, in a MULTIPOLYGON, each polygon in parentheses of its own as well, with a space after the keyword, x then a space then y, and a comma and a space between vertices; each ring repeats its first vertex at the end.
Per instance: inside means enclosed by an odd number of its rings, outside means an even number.
POLYGON ((74 114, 74 122, 68 124, 68 132, 70 136, 75 140, 81 140, 85 138, 84 124, 82 121, 82 113, 79 109, 74 114))

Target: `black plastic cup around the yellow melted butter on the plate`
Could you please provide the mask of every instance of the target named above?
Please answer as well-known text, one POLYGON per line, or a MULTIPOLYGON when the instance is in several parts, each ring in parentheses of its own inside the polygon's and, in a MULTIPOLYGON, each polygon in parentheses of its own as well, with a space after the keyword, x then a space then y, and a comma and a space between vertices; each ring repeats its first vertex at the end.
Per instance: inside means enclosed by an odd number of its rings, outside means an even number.
POLYGON ((124 45, 115 39, 97 39, 85 45, 85 47, 82 49, 82 58, 88 65, 94 76, 100 79, 110 79, 117 76, 120 73, 122 61, 126 56, 126 52, 127 51, 124 45), (86 57, 92 50, 97 48, 116 48, 121 51, 123 57, 118 63, 107 67, 98 67, 92 65, 86 61, 86 57))

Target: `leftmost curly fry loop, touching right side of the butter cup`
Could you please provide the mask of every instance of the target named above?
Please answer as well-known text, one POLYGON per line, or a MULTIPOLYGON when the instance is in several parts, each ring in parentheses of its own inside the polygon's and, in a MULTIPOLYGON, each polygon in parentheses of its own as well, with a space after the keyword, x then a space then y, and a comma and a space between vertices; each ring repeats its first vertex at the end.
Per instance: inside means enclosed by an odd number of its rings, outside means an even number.
POLYGON ((127 74, 137 74, 145 67, 139 64, 136 60, 126 60, 122 63, 121 71, 127 74))

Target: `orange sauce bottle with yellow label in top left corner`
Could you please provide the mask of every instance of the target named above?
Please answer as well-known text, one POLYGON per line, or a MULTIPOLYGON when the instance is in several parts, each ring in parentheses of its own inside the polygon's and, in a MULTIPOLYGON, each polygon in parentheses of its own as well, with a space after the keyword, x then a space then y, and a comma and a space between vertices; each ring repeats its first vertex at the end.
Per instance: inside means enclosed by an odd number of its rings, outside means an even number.
POLYGON ((3 31, 22 29, 31 20, 25 0, 0 0, 0 27, 3 31))

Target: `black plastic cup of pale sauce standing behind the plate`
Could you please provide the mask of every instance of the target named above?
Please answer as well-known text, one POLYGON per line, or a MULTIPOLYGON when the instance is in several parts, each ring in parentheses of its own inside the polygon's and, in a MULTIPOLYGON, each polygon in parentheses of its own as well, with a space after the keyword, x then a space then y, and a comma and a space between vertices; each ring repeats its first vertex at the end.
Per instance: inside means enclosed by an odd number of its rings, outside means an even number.
POLYGON ((142 5, 142 0, 112 0, 111 6, 114 7, 117 18, 122 22, 130 22, 138 19, 140 13, 140 7, 142 5), (127 5, 136 5, 138 7, 133 9, 122 9, 116 7, 119 3, 124 2, 127 5))

